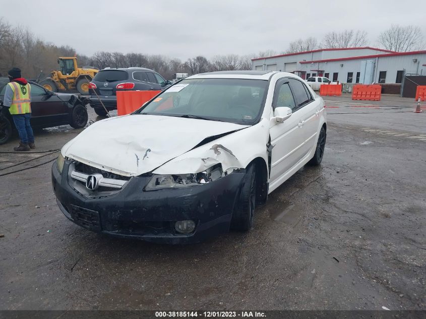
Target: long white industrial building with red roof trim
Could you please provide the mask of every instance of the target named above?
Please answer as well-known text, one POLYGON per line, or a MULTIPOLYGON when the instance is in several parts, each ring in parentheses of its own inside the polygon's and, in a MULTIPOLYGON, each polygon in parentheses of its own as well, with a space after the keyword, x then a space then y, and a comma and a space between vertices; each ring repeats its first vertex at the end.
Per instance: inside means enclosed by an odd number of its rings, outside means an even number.
POLYGON ((252 67, 253 70, 290 72, 302 79, 319 76, 340 83, 402 83, 404 75, 426 75, 426 50, 318 49, 254 58, 252 67))

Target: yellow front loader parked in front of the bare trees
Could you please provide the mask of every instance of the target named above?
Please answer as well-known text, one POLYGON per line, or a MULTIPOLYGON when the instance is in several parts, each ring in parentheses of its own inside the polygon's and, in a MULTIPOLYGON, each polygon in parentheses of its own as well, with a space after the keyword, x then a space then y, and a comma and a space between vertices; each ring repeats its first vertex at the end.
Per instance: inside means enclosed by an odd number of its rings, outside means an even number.
POLYGON ((49 78, 39 82, 45 89, 52 92, 78 91, 81 95, 89 93, 89 82, 92 81, 98 69, 93 67, 79 68, 77 57, 59 57, 59 70, 53 70, 49 78))

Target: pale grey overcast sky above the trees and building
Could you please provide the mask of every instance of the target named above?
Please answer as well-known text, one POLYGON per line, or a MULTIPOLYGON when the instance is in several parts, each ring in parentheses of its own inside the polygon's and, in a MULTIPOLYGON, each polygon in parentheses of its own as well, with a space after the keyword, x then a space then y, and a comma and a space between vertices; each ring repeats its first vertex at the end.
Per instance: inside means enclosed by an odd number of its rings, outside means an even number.
POLYGON ((391 23, 426 35, 426 1, 0 0, 0 17, 77 52, 142 52, 186 60, 215 54, 284 51, 297 38, 343 29, 369 33, 391 23))

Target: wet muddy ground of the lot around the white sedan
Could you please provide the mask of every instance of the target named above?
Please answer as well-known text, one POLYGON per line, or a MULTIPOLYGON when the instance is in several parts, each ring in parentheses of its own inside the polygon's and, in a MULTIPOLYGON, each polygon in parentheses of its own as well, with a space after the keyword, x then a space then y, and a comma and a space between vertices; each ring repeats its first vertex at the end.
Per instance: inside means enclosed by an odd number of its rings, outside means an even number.
MULTIPOLYGON (((56 206, 52 162, 0 176, 0 309, 426 309, 426 112, 389 96, 326 105, 322 165, 270 194, 250 232, 200 244, 73 224, 56 206)), ((38 132, 37 150, 79 132, 38 132)), ((0 175, 56 156, 4 169, 39 155, 0 154, 0 175)))

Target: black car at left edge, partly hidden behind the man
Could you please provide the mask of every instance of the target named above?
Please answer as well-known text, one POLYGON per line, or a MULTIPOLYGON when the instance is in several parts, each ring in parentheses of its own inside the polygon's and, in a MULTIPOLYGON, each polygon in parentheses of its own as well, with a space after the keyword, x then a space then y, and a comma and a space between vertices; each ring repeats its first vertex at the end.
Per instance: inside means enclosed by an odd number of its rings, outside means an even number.
MULTIPOLYGON (((0 105, 3 104, 8 78, 0 78, 0 105)), ((88 115, 86 104, 89 101, 79 95, 53 93, 42 86, 28 81, 31 86, 31 126, 44 129, 70 124, 75 129, 86 126, 88 115)), ((0 145, 7 143, 13 134, 15 124, 7 107, 0 117, 0 145)))

